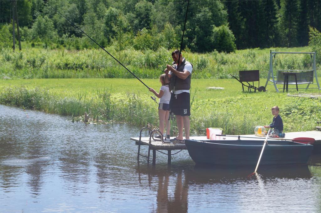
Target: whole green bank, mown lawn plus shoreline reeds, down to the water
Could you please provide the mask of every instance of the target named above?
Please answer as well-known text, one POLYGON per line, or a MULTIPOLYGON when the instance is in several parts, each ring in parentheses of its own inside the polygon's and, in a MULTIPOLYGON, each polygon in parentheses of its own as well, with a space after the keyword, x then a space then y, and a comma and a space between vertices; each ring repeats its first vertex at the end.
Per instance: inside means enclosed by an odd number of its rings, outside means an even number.
MULTIPOLYGON (((261 79, 261 85, 265 81, 261 79)), ((159 90, 157 80, 143 82, 159 90)), ((252 134, 256 125, 272 121, 270 109, 274 105, 281 109, 285 131, 313 130, 321 118, 319 99, 289 97, 276 93, 272 85, 262 93, 241 92, 241 84, 235 79, 193 79, 192 85, 193 134, 203 134, 206 127, 221 127, 226 134, 252 134)), ((136 79, 0 80, 0 91, 1 104, 69 115, 71 119, 87 112, 93 121, 158 126, 152 93, 136 79)), ((301 91, 320 93, 317 89, 301 91)), ((176 123, 172 126, 175 131, 176 123)))

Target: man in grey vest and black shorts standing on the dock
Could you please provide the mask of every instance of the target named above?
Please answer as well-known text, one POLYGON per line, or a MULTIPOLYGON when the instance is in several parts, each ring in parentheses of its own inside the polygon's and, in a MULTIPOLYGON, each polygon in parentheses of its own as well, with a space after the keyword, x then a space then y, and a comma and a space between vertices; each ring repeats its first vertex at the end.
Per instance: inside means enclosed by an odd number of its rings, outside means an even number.
POLYGON ((183 128, 185 128, 185 139, 189 139, 189 116, 191 115, 189 89, 191 88, 193 65, 183 58, 179 50, 172 52, 172 58, 176 64, 173 67, 167 65, 164 71, 165 82, 170 82, 169 88, 172 90, 169 102, 170 112, 175 114, 178 128, 178 136, 171 141, 183 142, 183 128))

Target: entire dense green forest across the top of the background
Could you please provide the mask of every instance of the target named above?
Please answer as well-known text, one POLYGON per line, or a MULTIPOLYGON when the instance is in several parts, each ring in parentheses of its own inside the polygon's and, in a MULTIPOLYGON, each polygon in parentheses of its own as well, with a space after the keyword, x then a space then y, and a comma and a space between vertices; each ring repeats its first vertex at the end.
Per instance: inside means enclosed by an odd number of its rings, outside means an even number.
MULTIPOLYGON (((58 10, 102 46, 157 50, 179 48, 187 0, 20 0, 17 8, 22 40, 95 47, 58 10)), ((11 46, 11 11, 0 1, 1 47, 11 46)), ((183 48, 303 46, 309 27, 321 30, 321 0, 190 0, 183 48)))

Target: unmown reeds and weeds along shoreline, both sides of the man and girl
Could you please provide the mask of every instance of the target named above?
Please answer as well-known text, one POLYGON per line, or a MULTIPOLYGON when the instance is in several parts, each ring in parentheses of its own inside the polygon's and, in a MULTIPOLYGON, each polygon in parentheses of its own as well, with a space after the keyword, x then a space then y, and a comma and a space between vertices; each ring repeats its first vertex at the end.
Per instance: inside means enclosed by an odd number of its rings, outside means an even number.
MULTIPOLYGON (((194 92, 195 94, 195 92, 194 92)), ((220 127, 224 134, 253 134, 257 125, 272 121, 271 107, 278 105, 284 130, 313 130, 321 117, 321 101, 294 98, 275 93, 244 93, 239 97, 195 100, 191 94, 191 133, 204 134, 207 127, 220 127)), ((97 89, 89 97, 77 93, 76 97, 60 97, 40 88, 4 88, 0 91, 0 104, 23 106, 47 113, 69 115, 82 120, 85 113, 90 122, 126 122, 139 126, 159 125, 157 105, 149 96, 141 94, 111 94, 97 89)), ((177 131, 172 121, 171 132, 177 131)))

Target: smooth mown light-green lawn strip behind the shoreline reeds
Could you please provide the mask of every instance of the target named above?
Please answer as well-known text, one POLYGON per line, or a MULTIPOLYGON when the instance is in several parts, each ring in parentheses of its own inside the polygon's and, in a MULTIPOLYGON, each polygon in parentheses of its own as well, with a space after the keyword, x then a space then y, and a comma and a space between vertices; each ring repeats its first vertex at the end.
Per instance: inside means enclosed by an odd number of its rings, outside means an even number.
MULTIPOLYGON (((319 79, 321 79, 319 77, 319 79)), ((158 79, 141 79, 147 86, 159 91, 160 82, 158 79)), ((266 79, 260 79, 260 86, 265 86, 266 79)), ((271 83, 271 82, 269 82, 271 83)), ((255 82, 258 87, 258 83, 255 82)), ((277 84, 279 91, 282 93, 282 84, 277 84)), ((82 79, 21 79, 21 80, 0 80, 1 87, 26 87, 33 89, 39 87, 45 90, 49 90, 53 94, 60 94, 60 96, 74 97, 78 93, 87 93, 93 95, 97 89, 108 90, 112 95, 134 93, 143 96, 153 95, 148 91, 140 81, 137 79, 94 79, 94 78, 82 78, 82 79)), ((299 88, 305 88, 306 85, 299 85, 299 88)), ((317 87, 317 85, 311 85, 310 87, 317 87)), ((289 93, 298 93, 294 88, 295 85, 289 85, 289 93), (292 88, 292 89, 291 89, 292 88)), ((273 85, 268 84, 267 93, 273 93, 280 95, 274 89, 273 85)), ((196 100, 203 99, 221 99, 226 97, 238 97, 244 95, 264 96, 267 93, 250 93, 243 92, 241 83, 235 79, 192 79, 191 92, 195 94, 196 100), (208 89, 209 87, 222 87, 224 89, 208 89)), ((247 91, 247 88, 245 87, 247 91)), ((320 93, 318 89, 301 89, 299 93, 320 93)))

